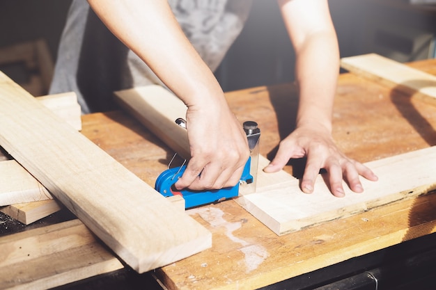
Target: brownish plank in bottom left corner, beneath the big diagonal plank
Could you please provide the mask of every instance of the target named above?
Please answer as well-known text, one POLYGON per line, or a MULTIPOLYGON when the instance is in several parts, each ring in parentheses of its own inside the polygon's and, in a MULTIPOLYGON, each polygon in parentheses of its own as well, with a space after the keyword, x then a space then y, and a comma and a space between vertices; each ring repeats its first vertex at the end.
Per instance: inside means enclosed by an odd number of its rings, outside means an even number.
POLYGON ((79 220, 0 238, 0 289, 49 289, 120 268, 79 220))

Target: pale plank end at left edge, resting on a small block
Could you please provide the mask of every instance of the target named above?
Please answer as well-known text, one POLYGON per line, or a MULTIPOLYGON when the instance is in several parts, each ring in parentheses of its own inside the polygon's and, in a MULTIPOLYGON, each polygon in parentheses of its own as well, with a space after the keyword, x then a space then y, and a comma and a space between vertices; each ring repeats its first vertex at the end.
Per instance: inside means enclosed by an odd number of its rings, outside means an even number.
POLYGON ((0 161, 0 206, 52 199, 47 189, 15 160, 0 161))

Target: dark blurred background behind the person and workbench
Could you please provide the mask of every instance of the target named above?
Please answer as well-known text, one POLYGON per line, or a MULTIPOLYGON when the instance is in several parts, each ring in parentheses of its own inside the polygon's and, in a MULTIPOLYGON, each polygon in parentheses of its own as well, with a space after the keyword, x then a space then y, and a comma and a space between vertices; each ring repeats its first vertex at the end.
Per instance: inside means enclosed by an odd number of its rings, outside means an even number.
MULTIPOLYGON (((42 38, 55 61, 70 2, 0 1, 0 49, 42 38)), ((408 0, 330 0, 329 5, 341 57, 375 52, 407 62, 435 56, 436 6, 408 0)), ((293 65, 276 1, 254 0, 247 25, 216 76, 225 91, 267 86, 293 81, 293 65)))

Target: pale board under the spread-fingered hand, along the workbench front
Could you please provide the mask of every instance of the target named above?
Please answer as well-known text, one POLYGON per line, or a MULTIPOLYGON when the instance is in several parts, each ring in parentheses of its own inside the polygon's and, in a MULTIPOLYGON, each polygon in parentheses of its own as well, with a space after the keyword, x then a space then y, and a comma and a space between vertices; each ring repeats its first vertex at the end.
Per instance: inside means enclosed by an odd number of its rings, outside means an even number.
MULTIPOLYGON (((335 198, 324 179, 316 179, 312 194, 299 190, 299 180, 260 188, 237 200, 276 234, 287 234, 329 220, 346 218, 384 204, 416 198, 436 188, 436 147, 416 150, 365 163, 379 177, 361 179, 364 193, 353 193, 344 184, 345 197, 335 198)), ((260 175, 262 178, 264 175, 260 175)))

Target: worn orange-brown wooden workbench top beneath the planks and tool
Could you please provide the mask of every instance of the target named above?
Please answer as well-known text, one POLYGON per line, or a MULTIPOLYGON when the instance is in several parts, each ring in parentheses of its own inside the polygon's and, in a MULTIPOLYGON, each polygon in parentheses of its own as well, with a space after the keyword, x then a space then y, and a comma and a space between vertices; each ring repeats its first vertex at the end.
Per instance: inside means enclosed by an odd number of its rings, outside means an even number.
MULTIPOLYGON (((411 65, 436 74, 436 61, 411 65)), ((279 140, 294 127, 295 87, 250 88, 226 97, 241 121, 258 122, 260 154, 271 159, 279 140)), ((150 185, 173 156, 123 111, 84 115, 82 121, 85 136, 150 185)), ((343 152, 361 162, 436 145, 436 102, 424 103, 395 88, 341 74, 333 136, 343 152)), ((302 164, 293 161, 285 170, 299 176, 302 164)), ((169 289, 255 289, 435 232, 436 195, 285 236, 274 234, 233 200, 188 213, 212 232, 213 247, 154 275, 169 289)))

